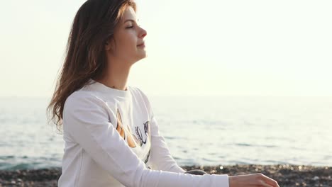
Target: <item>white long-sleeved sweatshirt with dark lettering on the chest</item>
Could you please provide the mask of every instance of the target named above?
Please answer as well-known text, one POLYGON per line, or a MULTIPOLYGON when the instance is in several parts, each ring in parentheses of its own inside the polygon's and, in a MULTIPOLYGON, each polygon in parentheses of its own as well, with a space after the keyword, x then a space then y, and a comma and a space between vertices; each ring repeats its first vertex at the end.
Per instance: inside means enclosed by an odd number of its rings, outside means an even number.
POLYGON ((60 187, 229 187, 227 175, 184 174, 160 135, 140 89, 94 80, 71 94, 63 111, 60 187))

